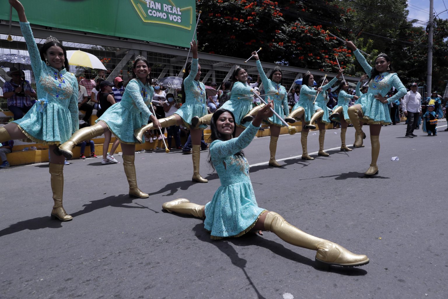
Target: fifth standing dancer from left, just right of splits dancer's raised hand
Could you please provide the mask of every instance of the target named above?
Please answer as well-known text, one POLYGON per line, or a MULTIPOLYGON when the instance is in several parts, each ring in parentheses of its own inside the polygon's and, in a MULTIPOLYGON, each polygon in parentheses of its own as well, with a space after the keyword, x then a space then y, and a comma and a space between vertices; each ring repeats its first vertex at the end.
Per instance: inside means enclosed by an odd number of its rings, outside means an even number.
MULTIPOLYGON (((278 95, 271 95, 271 99, 273 98, 274 103, 274 110, 276 113, 278 113, 282 118, 285 117, 285 115, 289 114, 289 108, 288 108, 288 91, 286 91, 286 88, 281 85, 281 78, 282 73, 279 66, 276 66, 274 70, 272 71, 269 78, 267 78, 266 74, 264 74, 263 67, 261 66, 261 62, 259 59, 259 56, 257 52, 252 52, 252 55, 254 55, 255 61, 257 61, 257 69, 258 73, 260 74, 261 82, 263 82, 263 88, 265 93, 275 93, 278 92, 278 95), (282 108, 283 105, 283 108, 282 108)), ((259 106, 256 106, 255 108, 263 108, 264 104, 261 104, 259 106)), ((254 108, 254 109, 255 109, 254 108)), ((252 110, 254 110, 252 109, 252 110)), ((249 113, 252 116, 254 114, 249 113)), ((280 128, 284 126, 284 124, 278 119, 276 115, 272 115, 272 117, 269 117, 269 129, 271 131, 271 141, 269 143, 269 165, 273 167, 281 167, 280 164, 276 161, 276 151, 277 151, 277 140, 279 139, 280 135, 280 128)))

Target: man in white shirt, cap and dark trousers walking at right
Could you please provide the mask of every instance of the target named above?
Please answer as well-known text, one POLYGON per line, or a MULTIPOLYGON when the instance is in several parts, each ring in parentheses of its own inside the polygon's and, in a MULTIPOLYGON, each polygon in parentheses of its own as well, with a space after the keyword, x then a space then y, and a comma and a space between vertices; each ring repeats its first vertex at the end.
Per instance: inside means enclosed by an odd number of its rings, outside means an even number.
POLYGON ((422 96, 417 92, 417 83, 412 83, 411 90, 405 95, 402 101, 403 113, 408 119, 408 127, 406 128, 407 138, 414 138, 415 128, 419 125, 418 119, 422 115, 422 96))

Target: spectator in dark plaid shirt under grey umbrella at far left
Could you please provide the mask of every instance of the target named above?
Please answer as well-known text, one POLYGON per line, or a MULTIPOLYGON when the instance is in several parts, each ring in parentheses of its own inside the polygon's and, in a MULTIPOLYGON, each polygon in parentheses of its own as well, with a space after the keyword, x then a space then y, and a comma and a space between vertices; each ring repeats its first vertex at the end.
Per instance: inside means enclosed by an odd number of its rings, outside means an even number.
POLYGON ((14 120, 17 120, 31 109, 31 97, 37 95, 30 82, 22 79, 22 75, 25 75, 23 71, 11 68, 6 74, 12 79, 4 82, 3 97, 8 100, 8 109, 14 114, 14 120))

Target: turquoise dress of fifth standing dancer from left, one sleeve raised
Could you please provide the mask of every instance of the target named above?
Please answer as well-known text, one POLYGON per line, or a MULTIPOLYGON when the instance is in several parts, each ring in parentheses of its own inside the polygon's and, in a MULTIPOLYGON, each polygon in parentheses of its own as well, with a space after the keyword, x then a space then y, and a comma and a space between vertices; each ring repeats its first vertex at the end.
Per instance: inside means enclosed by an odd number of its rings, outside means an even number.
MULTIPOLYGON (((270 99, 274 99, 274 110, 284 119, 285 115, 289 114, 288 92, 286 91, 286 88, 280 83, 277 84, 276 82, 266 77, 260 60, 257 60, 257 69, 258 74, 260 74, 261 82, 263 82, 264 92, 279 92, 278 95, 268 95, 267 97, 269 97, 270 99)), ((265 100, 267 100, 267 97, 265 97, 265 100)), ((284 123, 275 114, 272 115, 272 117, 269 117, 269 123, 274 126, 284 126, 284 123)))

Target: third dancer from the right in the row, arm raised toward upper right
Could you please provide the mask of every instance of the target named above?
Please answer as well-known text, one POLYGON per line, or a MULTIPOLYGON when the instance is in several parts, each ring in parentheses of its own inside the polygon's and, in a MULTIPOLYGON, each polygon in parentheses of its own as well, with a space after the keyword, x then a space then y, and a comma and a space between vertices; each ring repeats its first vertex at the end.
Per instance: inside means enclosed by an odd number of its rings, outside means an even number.
MULTIPOLYGON (((334 83, 340 78, 342 75, 342 69, 339 70, 338 74, 335 78, 333 78, 330 82, 328 82, 327 76, 320 78, 318 85, 322 88, 322 91, 316 96, 315 105, 317 106, 316 111, 311 117, 310 124, 314 121, 317 121, 317 126, 319 127, 319 156, 330 156, 327 152, 323 150, 323 142, 325 140, 325 125, 329 124, 331 121, 329 119, 327 103, 330 100, 328 97, 328 88, 331 88, 334 83)), ((333 116, 336 116, 334 113, 333 116)))

